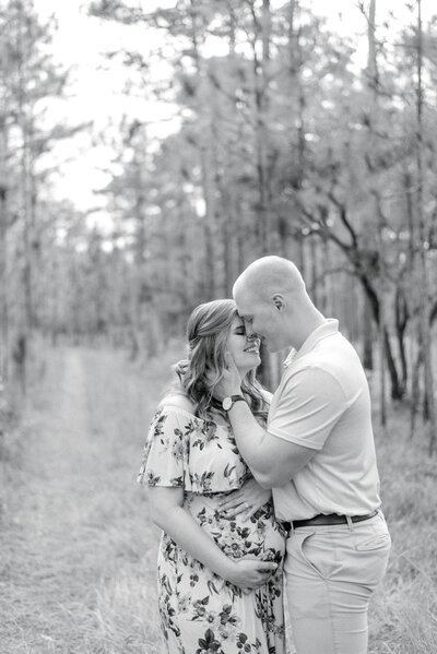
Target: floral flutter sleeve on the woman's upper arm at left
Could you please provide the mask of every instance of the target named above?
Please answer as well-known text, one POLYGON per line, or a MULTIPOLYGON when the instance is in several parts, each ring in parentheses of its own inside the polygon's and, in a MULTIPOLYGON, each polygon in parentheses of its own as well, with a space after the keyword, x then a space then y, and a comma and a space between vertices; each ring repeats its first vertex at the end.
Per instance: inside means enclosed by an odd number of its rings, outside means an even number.
MULTIPOLYGON (((160 408, 152 418, 137 481, 147 486, 186 487, 187 417, 160 408)), ((188 477, 188 475, 187 475, 188 477)))

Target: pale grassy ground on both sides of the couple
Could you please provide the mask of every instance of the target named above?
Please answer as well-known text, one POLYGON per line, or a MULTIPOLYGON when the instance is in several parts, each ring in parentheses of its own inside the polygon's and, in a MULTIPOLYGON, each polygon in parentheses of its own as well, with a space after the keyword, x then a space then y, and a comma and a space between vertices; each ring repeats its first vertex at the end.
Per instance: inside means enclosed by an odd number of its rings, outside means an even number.
MULTIPOLYGON (((0 654, 161 654, 160 534, 134 478, 176 356, 48 353, 21 425, 0 437, 0 654)), ((406 426, 398 409, 377 433, 393 549, 371 654, 437 652, 436 460, 406 426)))

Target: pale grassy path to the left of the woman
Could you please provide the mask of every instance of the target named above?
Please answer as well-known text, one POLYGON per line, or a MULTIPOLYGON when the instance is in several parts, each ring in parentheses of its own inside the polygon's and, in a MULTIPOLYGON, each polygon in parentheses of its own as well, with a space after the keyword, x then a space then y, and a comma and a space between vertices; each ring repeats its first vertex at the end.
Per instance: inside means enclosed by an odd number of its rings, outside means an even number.
POLYGON ((158 391, 121 355, 51 353, 1 525, 1 654, 158 652, 157 532, 134 484, 158 391))

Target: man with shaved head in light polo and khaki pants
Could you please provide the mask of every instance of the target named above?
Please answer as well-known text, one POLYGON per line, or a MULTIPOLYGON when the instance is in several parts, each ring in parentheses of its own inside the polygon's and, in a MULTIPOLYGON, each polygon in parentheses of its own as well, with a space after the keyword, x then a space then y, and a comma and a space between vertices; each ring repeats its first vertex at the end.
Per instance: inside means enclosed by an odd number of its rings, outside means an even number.
POLYGON ((231 359, 217 394, 241 455, 273 488, 288 530, 284 572, 297 654, 365 654, 368 602, 391 542, 362 364, 291 261, 258 259, 236 281, 234 298, 248 336, 262 337, 270 352, 294 348, 267 430, 238 401, 231 359))

